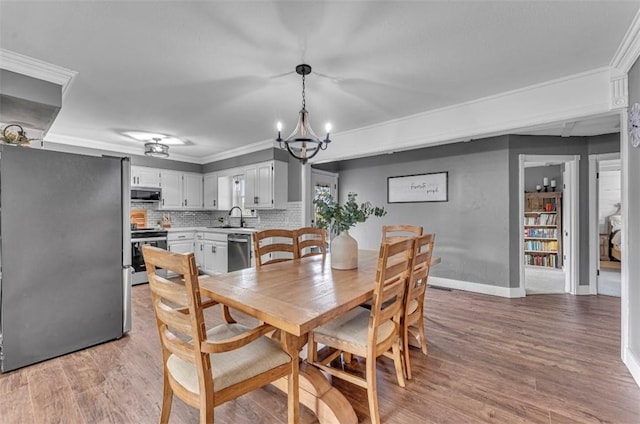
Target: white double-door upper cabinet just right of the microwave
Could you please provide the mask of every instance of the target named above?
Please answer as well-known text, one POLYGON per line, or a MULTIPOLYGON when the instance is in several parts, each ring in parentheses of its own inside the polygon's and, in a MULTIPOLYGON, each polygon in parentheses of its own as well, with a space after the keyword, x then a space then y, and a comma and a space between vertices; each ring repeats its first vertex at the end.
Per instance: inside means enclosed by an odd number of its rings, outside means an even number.
POLYGON ((202 209, 202 174, 163 170, 161 183, 160 209, 202 209))

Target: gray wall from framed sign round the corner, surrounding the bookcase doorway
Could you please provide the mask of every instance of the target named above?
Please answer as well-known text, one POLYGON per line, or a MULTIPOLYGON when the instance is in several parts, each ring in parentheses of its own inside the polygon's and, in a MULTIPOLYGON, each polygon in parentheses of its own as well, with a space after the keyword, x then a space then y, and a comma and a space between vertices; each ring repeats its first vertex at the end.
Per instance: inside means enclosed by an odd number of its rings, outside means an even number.
MULTIPOLYGON (((518 287, 520 238, 518 187, 520 154, 580 155, 580 279, 588 283, 588 155, 619 151, 619 135, 598 137, 502 136, 363 159, 322 164, 340 173, 341 200, 357 192, 359 201, 385 206, 387 216, 371 218, 351 233, 363 248, 376 249, 380 227, 422 225, 435 232, 436 254, 443 257, 434 276, 518 287), (388 204, 387 177, 426 172, 449 173, 449 201, 388 204)), ((551 174, 549 174, 551 178, 551 174)), ((558 178, 558 186, 561 186, 558 178)))

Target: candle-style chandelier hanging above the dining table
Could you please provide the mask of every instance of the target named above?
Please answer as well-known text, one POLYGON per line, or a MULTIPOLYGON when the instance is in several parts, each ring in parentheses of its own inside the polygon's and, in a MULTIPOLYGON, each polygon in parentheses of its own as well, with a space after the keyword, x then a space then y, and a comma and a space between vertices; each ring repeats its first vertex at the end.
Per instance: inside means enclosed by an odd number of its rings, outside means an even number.
POLYGON ((317 155, 320 150, 325 150, 328 144, 331 143, 329 139, 331 124, 327 123, 325 126, 327 136, 324 140, 321 140, 313 132, 311 124, 309 123, 309 112, 307 112, 306 109, 304 86, 305 76, 311 73, 311 66, 305 64, 298 65, 296 66, 296 73, 302 75, 302 109, 300 109, 298 115, 298 125, 296 125, 291 135, 283 140, 280 134, 280 131, 282 131, 282 123, 278 122, 278 138, 276 138, 276 141, 280 145, 280 148, 283 148, 282 143, 284 143, 289 154, 299 159, 302 164, 305 164, 309 159, 317 155))

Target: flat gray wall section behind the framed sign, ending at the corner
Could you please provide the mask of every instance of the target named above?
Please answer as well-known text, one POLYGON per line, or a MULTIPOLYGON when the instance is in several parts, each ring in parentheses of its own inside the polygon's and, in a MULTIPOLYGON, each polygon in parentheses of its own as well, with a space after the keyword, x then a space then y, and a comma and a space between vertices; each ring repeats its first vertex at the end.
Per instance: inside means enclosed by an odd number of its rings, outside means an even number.
MULTIPOLYGON (((508 137, 399 152, 339 163, 339 198, 384 206, 351 233, 361 248, 377 249, 384 224, 422 225, 436 233, 443 262, 432 275, 508 287, 508 137), (448 202, 387 203, 387 177, 448 172, 448 202)), ((517 283, 517 281, 516 281, 517 283)))

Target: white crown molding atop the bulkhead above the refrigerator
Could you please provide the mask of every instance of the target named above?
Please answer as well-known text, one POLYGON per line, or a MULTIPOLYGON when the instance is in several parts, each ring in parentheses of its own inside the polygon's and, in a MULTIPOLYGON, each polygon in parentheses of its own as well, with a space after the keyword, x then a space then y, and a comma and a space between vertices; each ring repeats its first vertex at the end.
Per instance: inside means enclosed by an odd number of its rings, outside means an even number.
POLYGON ((78 72, 72 71, 71 69, 43 62, 6 49, 0 49, 0 68, 58 84, 62 86, 63 99, 69 87, 71 87, 74 78, 78 75, 78 72))

